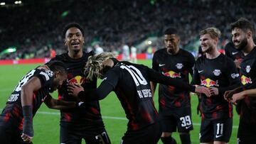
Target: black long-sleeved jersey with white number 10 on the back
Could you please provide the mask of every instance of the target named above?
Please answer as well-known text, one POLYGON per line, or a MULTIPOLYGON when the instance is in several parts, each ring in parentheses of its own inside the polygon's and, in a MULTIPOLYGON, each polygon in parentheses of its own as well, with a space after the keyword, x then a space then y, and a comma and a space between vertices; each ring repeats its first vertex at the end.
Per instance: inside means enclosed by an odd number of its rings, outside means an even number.
POLYGON ((114 91, 129 119, 128 130, 137 131, 159 121, 151 93, 151 82, 171 84, 186 91, 195 91, 195 87, 186 82, 166 77, 144 65, 130 62, 117 62, 107 71, 97 89, 80 92, 80 99, 104 99, 114 91))

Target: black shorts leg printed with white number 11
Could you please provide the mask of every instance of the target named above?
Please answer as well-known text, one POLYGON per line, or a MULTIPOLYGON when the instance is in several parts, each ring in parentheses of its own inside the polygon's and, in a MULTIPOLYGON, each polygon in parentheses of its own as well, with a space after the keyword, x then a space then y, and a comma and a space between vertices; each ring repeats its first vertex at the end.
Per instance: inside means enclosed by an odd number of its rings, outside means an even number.
POLYGON ((214 141, 228 143, 232 133, 233 118, 215 121, 213 125, 214 141))

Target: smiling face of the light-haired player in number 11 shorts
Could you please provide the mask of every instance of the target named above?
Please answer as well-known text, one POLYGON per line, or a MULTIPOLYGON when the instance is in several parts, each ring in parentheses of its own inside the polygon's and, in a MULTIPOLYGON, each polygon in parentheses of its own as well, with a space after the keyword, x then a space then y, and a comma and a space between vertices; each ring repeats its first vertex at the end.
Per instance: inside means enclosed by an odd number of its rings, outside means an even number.
POLYGON ((202 52, 210 52, 217 46, 218 40, 210 37, 208 33, 200 36, 202 52))

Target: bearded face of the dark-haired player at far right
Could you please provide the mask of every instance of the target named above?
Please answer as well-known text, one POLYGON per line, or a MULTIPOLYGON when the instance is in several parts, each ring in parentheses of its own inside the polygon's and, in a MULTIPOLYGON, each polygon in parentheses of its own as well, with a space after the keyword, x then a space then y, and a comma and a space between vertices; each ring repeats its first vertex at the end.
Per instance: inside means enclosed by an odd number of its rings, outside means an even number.
POLYGON ((232 30, 232 40, 235 48, 238 50, 244 49, 248 43, 245 31, 242 31, 240 28, 234 28, 232 30))

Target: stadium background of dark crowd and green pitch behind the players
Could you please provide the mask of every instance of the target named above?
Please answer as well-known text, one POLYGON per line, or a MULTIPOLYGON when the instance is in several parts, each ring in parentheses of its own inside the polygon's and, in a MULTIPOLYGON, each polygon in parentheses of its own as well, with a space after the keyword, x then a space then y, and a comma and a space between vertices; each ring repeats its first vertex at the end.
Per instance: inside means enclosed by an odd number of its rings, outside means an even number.
MULTIPOLYGON (((241 16, 255 23, 255 5, 252 0, 0 0, 0 59, 4 60, 0 62, 0 109, 23 74, 40 65, 16 65, 19 60, 48 60, 50 49, 56 54, 66 51, 62 28, 69 22, 78 22, 85 29, 85 50, 93 50, 99 44, 105 51, 119 54, 122 45, 135 45, 139 53, 150 55, 151 51, 163 48, 164 29, 174 26, 181 33, 181 48, 196 56, 198 31, 211 26, 220 28, 221 50, 230 40, 229 23, 241 16)), ((150 59, 139 63, 151 67, 150 59)), ((154 99, 158 107, 157 96, 154 99)), ((113 93, 100 103, 112 143, 119 143, 127 125, 124 111, 113 93)), ((195 96, 191 104, 194 123, 191 139, 199 143, 200 117, 196 115, 195 96)), ((238 130, 238 116, 234 115, 230 143, 236 143, 238 130)), ((33 121, 33 142, 59 143, 59 117, 58 111, 43 104, 33 121)), ((178 135, 174 136, 180 143, 178 135)))

